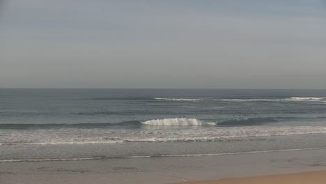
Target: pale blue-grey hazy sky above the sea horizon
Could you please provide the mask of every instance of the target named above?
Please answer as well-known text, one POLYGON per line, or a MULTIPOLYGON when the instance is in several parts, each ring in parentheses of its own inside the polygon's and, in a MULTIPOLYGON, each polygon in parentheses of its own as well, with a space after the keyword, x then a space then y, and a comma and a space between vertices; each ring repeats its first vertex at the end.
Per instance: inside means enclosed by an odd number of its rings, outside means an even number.
POLYGON ((326 89, 326 2, 0 0, 0 88, 326 89))

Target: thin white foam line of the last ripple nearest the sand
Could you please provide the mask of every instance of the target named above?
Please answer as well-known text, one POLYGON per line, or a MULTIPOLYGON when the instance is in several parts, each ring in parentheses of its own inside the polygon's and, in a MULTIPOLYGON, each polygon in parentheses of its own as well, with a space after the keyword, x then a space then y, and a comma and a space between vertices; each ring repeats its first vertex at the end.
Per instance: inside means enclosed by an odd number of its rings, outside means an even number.
POLYGON ((305 151, 305 150, 323 150, 326 147, 319 148, 293 148, 265 151, 247 151, 247 152, 232 152, 232 153, 203 153, 203 154, 186 154, 186 155, 134 155, 134 156, 116 156, 116 157, 91 157, 91 158, 45 158, 45 159, 21 159, 21 160, 0 160, 0 162, 49 162, 49 161, 77 161, 77 160, 104 160, 104 159, 137 159, 137 158, 161 158, 161 157, 205 157, 219 155, 245 155, 258 153, 275 153, 284 151, 305 151))

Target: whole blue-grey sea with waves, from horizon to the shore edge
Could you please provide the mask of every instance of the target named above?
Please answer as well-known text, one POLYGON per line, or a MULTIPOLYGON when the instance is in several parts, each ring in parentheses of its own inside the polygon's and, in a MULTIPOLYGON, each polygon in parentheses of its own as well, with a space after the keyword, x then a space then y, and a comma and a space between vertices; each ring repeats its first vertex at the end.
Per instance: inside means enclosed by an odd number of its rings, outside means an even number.
POLYGON ((0 162, 326 147, 326 91, 0 89, 0 162))

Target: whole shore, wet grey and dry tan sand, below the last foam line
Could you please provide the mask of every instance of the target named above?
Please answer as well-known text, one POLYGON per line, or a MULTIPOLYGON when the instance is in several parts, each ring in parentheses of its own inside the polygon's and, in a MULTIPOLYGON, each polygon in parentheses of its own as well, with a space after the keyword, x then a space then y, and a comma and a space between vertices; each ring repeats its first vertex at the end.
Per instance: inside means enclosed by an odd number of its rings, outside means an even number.
POLYGON ((197 184, 199 182, 194 181, 207 181, 201 183, 314 184, 326 183, 325 171, 326 149, 316 149, 203 157, 0 162, 0 183, 180 184, 186 181, 187 184, 197 184))

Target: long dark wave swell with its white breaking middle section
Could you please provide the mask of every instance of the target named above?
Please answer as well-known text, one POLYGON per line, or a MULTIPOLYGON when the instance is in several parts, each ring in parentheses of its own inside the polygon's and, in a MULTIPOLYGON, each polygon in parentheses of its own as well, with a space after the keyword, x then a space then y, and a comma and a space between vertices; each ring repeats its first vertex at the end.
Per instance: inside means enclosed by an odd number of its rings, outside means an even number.
MULTIPOLYGON (((306 118, 306 120, 320 119, 306 118)), ((199 120, 197 118, 162 118, 148 121, 124 121, 120 123, 49 123, 49 124, 0 124, 0 130, 37 130, 37 129, 59 129, 59 128, 145 128, 149 126, 200 126, 200 125, 217 125, 217 126, 252 126, 263 125, 265 123, 276 123, 279 121, 293 121, 302 118, 298 117, 238 117, 225 119, 199 120)))

